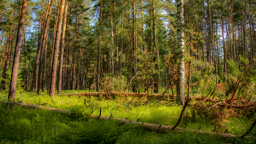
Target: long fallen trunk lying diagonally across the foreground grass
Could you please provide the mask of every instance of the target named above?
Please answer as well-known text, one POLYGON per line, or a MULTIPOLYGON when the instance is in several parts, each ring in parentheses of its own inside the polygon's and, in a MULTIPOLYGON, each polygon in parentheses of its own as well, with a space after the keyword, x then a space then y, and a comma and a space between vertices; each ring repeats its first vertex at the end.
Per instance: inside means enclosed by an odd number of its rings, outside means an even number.
MULTIPOLYGON (((52 110, 52 111, 56 111, 59 113, 71 113, 68 110, 60 110, 60 109, 56 109, 56 108, 51 108, 51 107, 44 107, 41 105, 30 105, 30 104, 23 104, 23 103, 19 103, 19 102, 7 102, 7 101, 2 101, 4 103, 8 103, 8 104, 12 104, 12 105, 21 105, 23 107, 32 107, 35 109, 46 109, 46 110, 52 110)), ((108 120, 110 119, 112 116, 108 117, 108 116, 103 116, 103 115, 90 115, 91 118, 99 118, 99 119, 104 119, 104 120, 108 120)), ((138 121, 129 121, 127 119, 123 119, 123 118, 112 118, 113 120, 116 120, 118 122, 120 122, 120 124, 128 124, 128 123, 132 123, 132 124, 138 124, 138 126, 143 127, 145 129, 154 131, 154 132, 161 132, 161 133, 168 133, 171 132, 171 129, 173 129, 173 126, 165 126, 165 125, 161 125, 161 124, 148 124, 148 123, 143 123, 143 122, 138 122, 138 121)), ((173 130, 181 130, 181 131, 187 131, 187 132, 197 132, 197 133, 202 133, 202 134, 214 134, 214 135, 218 135, 220 137, 224 137, 224 138, 233 138, 236 139, 238 137, 241 137, 241 135, 235 135, 235 134, 226 134, 226 133, 217 133, 217 132, 207 132, 207 131, 200 131, 200 130, 195 130, 195 129, 184 129, 184 128, 179 128, 176 127, 173 130)), ((256 139, 256 137, 251 137, 251 136, 246 136, 243 137, 245 139, 256 139)))

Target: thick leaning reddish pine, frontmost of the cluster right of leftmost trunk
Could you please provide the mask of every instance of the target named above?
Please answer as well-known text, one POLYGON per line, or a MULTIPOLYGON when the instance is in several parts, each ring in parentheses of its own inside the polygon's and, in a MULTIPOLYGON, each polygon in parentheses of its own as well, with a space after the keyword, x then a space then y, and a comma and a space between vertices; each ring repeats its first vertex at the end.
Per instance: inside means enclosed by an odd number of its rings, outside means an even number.
POLYGON ((50 96, 55 95, 55 86, 56 86, 56 74, 57 74, 57 62, 58 62, 58 55, 59 55, 59 41, 61 37, 61 25, 62 25, 62 17, 64 12, 64 4, 65 0, 60 0, 61 4, 59 7, 59 21, 56 25, 56 44, 54 45, 54 53, 53 53, 53 68, 51 70, 51 77, 50 77, 50 96))

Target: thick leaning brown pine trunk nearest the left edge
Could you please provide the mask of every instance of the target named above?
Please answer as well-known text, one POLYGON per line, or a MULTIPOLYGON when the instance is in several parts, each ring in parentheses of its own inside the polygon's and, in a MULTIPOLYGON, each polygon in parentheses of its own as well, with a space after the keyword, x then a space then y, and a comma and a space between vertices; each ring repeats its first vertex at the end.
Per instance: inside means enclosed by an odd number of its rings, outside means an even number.
POLYGON ((28 2, 27 0, 22 1, 22 7, 20 10, 20 20, 19 20, 19 25, 18 25, 18 34, 17 34, 17 39, 16 39, 16 45, 15 45, 15 54, 13 57, 12 76, 11 76, 11 81, 10 81, 10 91, 9 91, 8 99, 15 99, 15 95, 16 95, 18 65, 19 65, 19 59, 20 59, 20 47, 22 44, 23 26, 24 26, 24 22, 25 22, 27 2, 28 2))

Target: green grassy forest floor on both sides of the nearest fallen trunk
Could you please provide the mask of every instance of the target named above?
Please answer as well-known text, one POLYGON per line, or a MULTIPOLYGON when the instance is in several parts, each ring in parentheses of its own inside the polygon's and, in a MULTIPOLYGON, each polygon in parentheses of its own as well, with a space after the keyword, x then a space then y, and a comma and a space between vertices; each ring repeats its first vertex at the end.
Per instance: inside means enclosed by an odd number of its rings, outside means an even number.
MULTIPOLYGON (((0 101, 5 100, 7 94, 1 94, 0 101)), ((0 140, 1 143, 255 143, 253 140, 223 139, 212 134, 197 134, 186 130, 159 134, 138 129, 134 124, 120 126, 113 120, 89 118, 91 113, 99 115, 101 108, 101 115, 113 115, 114 118, 169 126, 176 124, 181 106, 157 100, 142 105, 145 100, 138 97, 115 97, 109 100, 102 96, 78 95, 50 98, 46 94, 37 96, 34 93, 23 93, 15 101, 69 110, 72 113, 53 113, 0 103, 0 140)), ((208 132, 224 132, 227 129, 228 134, 243 134, 256 116, 225 113, 226 116, 218 117, 218 114, 187 107, 178 127, 208 132)), ((255 132, 253 129, 249 135, 255 132)))

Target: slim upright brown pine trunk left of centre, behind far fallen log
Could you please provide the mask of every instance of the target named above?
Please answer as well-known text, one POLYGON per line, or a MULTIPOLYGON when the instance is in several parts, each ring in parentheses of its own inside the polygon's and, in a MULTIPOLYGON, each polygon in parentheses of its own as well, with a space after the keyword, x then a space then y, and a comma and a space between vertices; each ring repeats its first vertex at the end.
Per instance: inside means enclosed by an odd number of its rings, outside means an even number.
POLYGON ((102 0, 100 2, 99 9, 99 42, 98 42, 98 61, 97 61, 97 88, 96 91, 99 92, 99 83, 100 83, 100 42, 102 37, 102 0))

